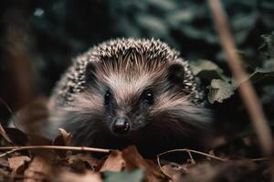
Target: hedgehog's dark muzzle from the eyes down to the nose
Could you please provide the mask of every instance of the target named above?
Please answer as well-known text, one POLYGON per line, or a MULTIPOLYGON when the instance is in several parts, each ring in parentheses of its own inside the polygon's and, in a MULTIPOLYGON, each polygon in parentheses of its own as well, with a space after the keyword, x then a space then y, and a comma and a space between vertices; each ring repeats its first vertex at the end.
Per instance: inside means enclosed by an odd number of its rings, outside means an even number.
POLYGON ((103 108, 106 122, 113 134, 130 134, 147 123, 149 110, 154 103, 151 89, 144 90, 140 96, 132 95, 132 100, 119 100, 115 96, 117 93, 108 89, 104 95, 103 108))

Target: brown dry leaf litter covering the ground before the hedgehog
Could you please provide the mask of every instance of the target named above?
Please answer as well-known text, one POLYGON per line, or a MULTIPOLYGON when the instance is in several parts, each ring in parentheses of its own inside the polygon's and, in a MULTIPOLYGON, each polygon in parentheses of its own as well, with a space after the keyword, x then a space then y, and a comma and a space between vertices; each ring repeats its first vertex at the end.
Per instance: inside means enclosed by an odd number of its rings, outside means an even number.
MULTIPOLYGON (((51 142, 52 148, 20 149, 28 146, 30 138, 17 128, 0 126, 2 144, 0 181, 269 181, 270 160, 254 155, 254 139, 239 137, 221 143, 204 153, 192 149, 177 149, 145 159, 136 147, 110 150, 104 157, 92 157, 83 149, 69 149, 72 135, 60 128, 61 135, 51 142), (16 136, 20 133, 19 137, 16 136), (239 142, 240 141, 240 142, 239 142), (3 146, 4 147, 4 146, 3 146), (2 148, 3 148, 2 147, 2 148), (57 147, 57 149, 54 149, 57 147), (58 147, 68 147, 59 150, 58 147), (10 149, 14 148, 14 149, 10 149), (168 161, 164 155, 187 153, 184 162, 168 161), (254 158, 252 158, 254 157, 254 158), (257 157, 257 158, 256 158, 257 157)), ((40 136, 43 138, 42 136, 40 136)), ((47 141, 46 138, 44 138, 47 141)), ((48 141, 45 143, 47 144, 48 141)), ((1 148, 1 147, 0 147, 1 148)), ((86 147, 89 148, 89 147, 86 147)))

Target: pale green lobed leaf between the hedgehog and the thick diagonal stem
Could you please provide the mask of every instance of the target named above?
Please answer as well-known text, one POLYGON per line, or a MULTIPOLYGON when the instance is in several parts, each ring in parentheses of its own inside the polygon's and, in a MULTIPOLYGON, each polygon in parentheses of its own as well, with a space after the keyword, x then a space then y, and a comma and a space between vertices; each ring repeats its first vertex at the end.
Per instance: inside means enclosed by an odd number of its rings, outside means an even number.
POLYGON ((214 102, 222 103, 223 100, 233 96, 236 86, 221 79, 213 79, 207 88, 209 89, 208 101, 213 104, 214 102))

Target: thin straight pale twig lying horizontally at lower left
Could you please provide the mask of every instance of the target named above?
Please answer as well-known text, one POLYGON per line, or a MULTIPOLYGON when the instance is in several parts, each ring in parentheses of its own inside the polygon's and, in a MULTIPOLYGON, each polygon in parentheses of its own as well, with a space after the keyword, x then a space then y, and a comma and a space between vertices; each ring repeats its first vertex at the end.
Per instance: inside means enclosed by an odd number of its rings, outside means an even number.
POLYGON ((32 150, 32 149, 54 149, 54 150, 74 150, 85 152, 100 152, 110 153, 111 149, 95 148, 95 147, 66 147, 66 146, 23 146, 23 147, 0 147, 0 150, 9 150, 0 157, 5 157, 8 154, 14 153, 20 150, 32 150))

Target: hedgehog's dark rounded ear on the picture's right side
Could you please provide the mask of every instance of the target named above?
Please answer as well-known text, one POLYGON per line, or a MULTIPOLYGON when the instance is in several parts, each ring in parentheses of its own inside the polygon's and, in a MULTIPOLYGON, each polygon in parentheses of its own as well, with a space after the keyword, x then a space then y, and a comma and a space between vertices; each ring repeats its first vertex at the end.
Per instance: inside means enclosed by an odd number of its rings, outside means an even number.
POLYGON ((178 63, 172 64, 168 68, 167 79, 176 86, 181 86, 184 83, 184 66, 178 63))

